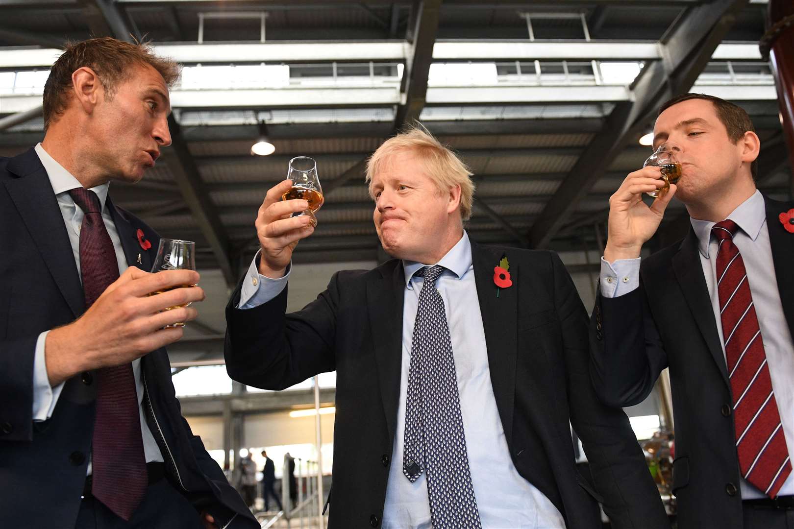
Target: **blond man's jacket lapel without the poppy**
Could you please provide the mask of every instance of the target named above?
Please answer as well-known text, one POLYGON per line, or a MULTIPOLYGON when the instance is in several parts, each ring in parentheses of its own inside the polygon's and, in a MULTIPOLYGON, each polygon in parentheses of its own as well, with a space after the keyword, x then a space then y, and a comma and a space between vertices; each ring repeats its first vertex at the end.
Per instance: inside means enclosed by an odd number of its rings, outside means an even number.
POLYGON ((399 382, 403 362, 403 301, 405 274, 400 261, 392 268, 380 269, 367 282, 367 309, 372 326, 372 342, 384 402, 389 438, 394 439, 399 401, 399 382))

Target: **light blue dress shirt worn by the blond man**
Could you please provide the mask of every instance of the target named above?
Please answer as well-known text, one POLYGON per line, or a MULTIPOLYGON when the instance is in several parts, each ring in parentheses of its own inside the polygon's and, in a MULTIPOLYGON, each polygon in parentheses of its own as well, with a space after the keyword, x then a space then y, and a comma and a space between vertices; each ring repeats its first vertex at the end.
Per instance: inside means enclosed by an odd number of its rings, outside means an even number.
MULTIPOLYGON (((286 276, 273 281, 260 275, 256 270, 258 258, 257 255, 249 268, 249 277, 246 278, 244 286, 244 294, 248 297, 241 296, 241 303, 238 305, 240 308, 256 306, 253 303, 255 300, 269 301, 286 285, 286 276), (257 284, 260 288, 255 292, 252 287, 257 284), (245 289, 248 291, 245 292, 245 289)), ((444 300, 449 335, 452 338, 468 463, 482 525, 486 528, 511 529, 563 528, 565 521, 561 513, 549 498, 521 477, 507 449, 507 439, 491 386, 485 332, 474 280, 472 247, 466 232, 437 264, 446 268, 438 278, 436 286, 444 300)), ((397 430, 384 505, 384 529, 432 527, 425 474, 422 473, 417 481, 411 483, 402 471, 410 349, 423 282, 423 278, 416 277, 415 274, 422 266, 426 265, 403 261, 406 288, 402 372, 397 430)))

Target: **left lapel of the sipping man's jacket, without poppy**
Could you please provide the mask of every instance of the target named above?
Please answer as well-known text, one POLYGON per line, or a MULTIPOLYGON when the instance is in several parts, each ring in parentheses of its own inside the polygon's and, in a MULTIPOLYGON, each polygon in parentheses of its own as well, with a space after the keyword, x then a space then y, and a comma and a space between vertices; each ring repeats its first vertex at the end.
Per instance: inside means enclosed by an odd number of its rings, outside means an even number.
POLYGON ((692 228, 681 243, 680 250, 673 255, 673 272, 687 300, 692 317, 706 340, 708 351, 714 358, 725 384, 730 387, 728 370, 723 357, 723 347, 719 341, 714 309, 708 296, 706 279, 703 278, 703 265, 700 263, 697 236, 692 228))

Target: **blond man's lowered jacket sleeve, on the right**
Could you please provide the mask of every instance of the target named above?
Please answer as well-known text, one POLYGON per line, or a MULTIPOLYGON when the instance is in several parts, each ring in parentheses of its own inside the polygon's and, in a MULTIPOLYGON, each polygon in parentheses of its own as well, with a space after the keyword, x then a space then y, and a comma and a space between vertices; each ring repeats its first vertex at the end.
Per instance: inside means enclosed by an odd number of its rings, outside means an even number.
POLYGON ((669 529, 661 497, 626 414, 595 396, 588 373, 587 312, 557 254, 553 254, 553 274, 571 424, 588 456, 603 510, 612 527, 669 529))

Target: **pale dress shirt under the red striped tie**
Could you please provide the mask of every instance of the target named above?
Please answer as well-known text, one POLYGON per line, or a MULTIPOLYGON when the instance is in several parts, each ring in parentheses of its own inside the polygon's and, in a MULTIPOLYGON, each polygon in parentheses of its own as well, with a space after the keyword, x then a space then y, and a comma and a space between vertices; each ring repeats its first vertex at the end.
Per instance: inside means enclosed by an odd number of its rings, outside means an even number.
MULTIPOLYGON (((756 192, 734 209, 728 217, 738 224, 739 230, 734 236, 734 243, 742 254, 742 261, 747 270, 750 282, 750 293, 753 296, 758 326, 764 340, 769 375, 772 378, 772 389, 775 392, 777 409, 781 415, 781 424, 788 454, 794 460, 794 343, 786 324, 781 304, 781 293, 777 289, 775 263, 772 259, 772 247, 769 245, 769 228, 766 225, 766 205, 761 191, 756 192)), ((711 309, 719 332, 719 342, 725 357, 725 339, 719 312, 719 290, 717 285, 717 248, 718 241, 711 236, 711 227, 716 224, 708 220, 690 219, 698 240, 700 264, 703 266, 703 277, 706 279, 711 309)), ((640 259, 618 259, 615 263, 607 263, 601 258, 601 295, 618 297, 629 293, 639 286, 640 259)), ((763 492, 741 478, 742 499, 752 500, 766 497, 763 492)), ((790 474, 779 492, 781 496, 794 495, 794 473, 790 474)))

